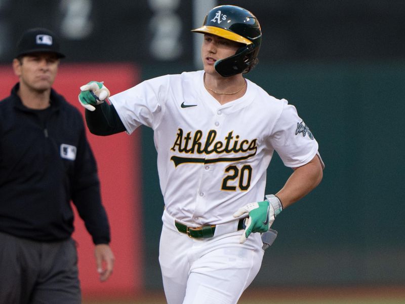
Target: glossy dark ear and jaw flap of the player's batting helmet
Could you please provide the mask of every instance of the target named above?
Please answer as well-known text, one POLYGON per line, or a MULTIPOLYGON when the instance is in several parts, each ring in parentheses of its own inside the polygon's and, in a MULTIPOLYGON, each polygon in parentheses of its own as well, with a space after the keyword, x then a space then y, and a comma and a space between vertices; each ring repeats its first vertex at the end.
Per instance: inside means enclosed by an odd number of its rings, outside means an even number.
POLYGON ((253 44, 239 48, 235 55, 215 62, 214 68, 222 77, 229 77, 243 72, 252 63, 253 44))

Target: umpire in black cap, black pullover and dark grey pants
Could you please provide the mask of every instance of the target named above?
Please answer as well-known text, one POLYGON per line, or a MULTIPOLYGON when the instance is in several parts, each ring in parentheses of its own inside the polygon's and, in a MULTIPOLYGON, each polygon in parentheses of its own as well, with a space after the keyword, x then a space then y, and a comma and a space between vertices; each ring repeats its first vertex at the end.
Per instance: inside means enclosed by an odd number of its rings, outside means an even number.
POLYGON ((80 112, 52 89, 58 37, 26 31, 13 69, 19 82, 0 101, 0 303, 79 304, 73 212, 95 244, 100 280, 114 256, 96 162, 80 112))

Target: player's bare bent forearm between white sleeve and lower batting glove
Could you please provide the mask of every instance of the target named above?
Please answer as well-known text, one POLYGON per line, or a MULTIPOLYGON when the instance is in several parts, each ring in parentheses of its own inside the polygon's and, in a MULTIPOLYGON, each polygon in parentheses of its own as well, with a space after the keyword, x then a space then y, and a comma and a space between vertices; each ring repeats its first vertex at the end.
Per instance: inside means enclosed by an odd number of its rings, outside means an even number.
POLYGON ((322 175, 322 166, 317 156, 306 165, 296 168, 284 187, 276 193, 283 208, 294 204, 310 193, 320 183, 322 175))

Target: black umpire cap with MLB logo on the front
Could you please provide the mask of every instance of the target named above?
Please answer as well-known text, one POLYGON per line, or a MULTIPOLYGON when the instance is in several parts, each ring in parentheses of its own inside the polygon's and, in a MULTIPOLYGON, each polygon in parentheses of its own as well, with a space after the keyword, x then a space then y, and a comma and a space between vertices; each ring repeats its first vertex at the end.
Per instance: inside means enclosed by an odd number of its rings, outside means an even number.
POLYGON ((55 53, 58 58, 65 57, 59 51, 59 39, 55 33, 41 27, 31 28, 22 34, 15 58, 32 53, 55 53))

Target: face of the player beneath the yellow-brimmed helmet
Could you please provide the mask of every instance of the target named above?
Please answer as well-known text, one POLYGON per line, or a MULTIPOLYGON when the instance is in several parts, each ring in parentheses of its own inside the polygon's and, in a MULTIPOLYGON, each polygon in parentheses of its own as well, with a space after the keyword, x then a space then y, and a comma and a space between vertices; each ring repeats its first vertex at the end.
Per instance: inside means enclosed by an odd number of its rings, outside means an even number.
POLYGON ((212 34, 204 34, 203 45, 201 46, 201 59, 203 59, 204 71, 207 74, 217 75, 214 68, 216 61, 235 55, 236 51, 244 44, 212 34))

